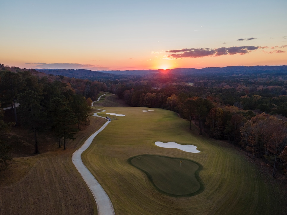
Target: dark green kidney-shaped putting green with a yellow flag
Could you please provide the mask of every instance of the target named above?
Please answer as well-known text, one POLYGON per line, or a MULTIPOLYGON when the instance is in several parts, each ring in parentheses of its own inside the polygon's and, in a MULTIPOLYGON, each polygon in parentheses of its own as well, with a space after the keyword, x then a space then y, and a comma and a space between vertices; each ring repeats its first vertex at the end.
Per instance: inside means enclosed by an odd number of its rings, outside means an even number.
POLYGON ((173 197, 198 195, 204 184, 198 176, 202 166, 192 160, 157 155, 138 155, 128 162, 143 171, 161 193, 173 197))

